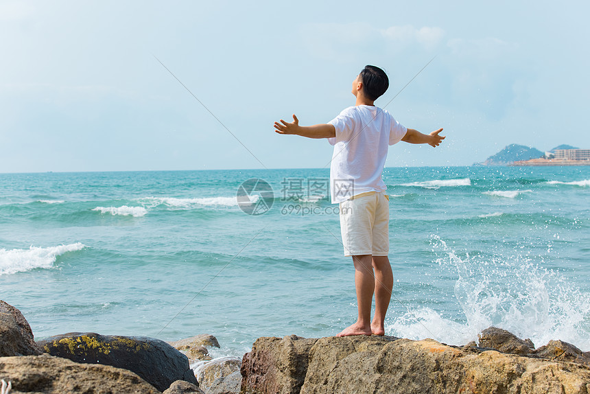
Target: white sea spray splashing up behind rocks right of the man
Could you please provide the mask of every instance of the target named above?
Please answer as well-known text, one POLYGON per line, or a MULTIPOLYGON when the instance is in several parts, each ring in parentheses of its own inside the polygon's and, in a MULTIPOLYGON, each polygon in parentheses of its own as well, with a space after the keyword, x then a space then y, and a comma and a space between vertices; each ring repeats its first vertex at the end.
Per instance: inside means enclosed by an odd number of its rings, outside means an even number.
POLYGON ((532 339, 536 347, 561 339, 590 350, 585 328, 590 299, 560 273, 542 268, 527 255, 460 256, 436 236, 432 246, 442 256, 437 260, 441 268, 458 277, 454 293, 467 323, 419 308, 388 320, 386 334, 465 345, 495 326, 532 339))

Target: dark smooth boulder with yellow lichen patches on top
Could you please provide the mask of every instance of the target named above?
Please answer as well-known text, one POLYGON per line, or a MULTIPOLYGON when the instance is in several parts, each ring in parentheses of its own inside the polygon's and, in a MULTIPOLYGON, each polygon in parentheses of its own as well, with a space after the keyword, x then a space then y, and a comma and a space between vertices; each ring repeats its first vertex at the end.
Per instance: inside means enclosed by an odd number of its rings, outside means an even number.
POLYGON ((73 332, 41 340, 38 345, 51 356, 128 369, 160 391, 176 380, 198 386, 187 357, 162 340, 73 332))

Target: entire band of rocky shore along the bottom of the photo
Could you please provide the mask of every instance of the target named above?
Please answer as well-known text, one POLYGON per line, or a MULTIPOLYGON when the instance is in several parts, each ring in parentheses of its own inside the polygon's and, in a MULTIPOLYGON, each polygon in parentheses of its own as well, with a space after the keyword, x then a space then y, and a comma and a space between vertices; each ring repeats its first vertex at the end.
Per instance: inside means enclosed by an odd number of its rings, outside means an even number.
POLYGON ((390 336, 263 337, 241 360, 211 360, 207 348, 219 346, 209 334, 165 343, 69 333, 36 342, 21 312, 0 301, 1 394, 590 394, 590 352, 560 340, 535 349, 494 327, 462 347, 390 336))

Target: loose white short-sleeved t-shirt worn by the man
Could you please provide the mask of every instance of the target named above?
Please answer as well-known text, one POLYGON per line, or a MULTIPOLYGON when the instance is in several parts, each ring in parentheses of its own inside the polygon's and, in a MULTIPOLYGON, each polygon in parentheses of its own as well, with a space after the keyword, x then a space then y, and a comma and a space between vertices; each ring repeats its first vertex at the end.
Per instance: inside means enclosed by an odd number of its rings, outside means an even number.
POLYGON ((365 192, 387 189, 381 174, 390 145, 408 132, 390 113, 368 105, 351 106, 328 122, 336 129, 330 165, 332 203, 365 192))

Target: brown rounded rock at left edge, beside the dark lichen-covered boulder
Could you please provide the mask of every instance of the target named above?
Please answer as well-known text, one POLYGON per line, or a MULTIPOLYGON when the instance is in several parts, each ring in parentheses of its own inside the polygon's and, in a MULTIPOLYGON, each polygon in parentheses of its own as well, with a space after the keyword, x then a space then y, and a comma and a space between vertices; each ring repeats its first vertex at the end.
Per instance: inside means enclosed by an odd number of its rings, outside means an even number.
POLYGON ((43 351, 35 343, 25 316, 14 306, 0 301, 0 357, 39 354, 43 351))

